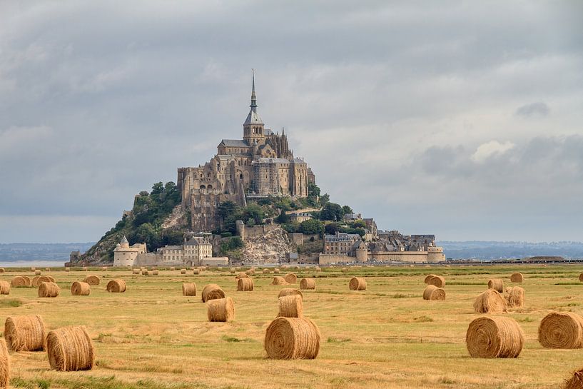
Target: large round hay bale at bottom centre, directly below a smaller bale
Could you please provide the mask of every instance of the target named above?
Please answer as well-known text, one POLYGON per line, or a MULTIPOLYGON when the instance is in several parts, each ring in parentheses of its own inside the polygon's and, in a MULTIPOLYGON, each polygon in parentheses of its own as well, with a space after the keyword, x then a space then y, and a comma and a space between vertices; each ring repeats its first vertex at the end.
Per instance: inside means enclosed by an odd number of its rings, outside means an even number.
POLYGON ((314 359, 320 330, 308 318, 276 318, 265 330, 265 352, 272 359, 314 359))

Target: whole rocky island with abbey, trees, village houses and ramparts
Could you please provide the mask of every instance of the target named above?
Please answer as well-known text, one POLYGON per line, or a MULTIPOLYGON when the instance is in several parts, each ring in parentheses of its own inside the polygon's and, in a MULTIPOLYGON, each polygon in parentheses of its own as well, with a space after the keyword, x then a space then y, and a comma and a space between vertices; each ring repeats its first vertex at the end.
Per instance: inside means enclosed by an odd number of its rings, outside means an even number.
POLYGON ((70 263, 226 266, 278 263, 419 263, 445 256, 435 236, 382 231, 373 217, 320 193, 285 129, 265 126, 255 75, 242 139, 223 139, 210 161, 155 183, 87 253, 70 263))

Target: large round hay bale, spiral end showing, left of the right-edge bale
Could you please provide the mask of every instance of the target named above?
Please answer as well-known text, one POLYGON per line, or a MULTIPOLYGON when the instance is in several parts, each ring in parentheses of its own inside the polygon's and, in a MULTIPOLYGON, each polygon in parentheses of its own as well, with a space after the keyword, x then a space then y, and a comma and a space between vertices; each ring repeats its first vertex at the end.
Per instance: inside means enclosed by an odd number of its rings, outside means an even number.
POLYGON ((473 358, 517 358, 524 333, 512 318, 485 316, 472 320, 465 343, 473 358))

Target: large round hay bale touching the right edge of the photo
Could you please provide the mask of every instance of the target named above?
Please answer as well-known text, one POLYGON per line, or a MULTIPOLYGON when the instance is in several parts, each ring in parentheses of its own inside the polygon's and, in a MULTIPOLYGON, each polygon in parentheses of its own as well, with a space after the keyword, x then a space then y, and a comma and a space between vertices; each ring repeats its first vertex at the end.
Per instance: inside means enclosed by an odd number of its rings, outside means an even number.
POLYGON ((583 348, 583 318, 572 312, 551 312, 539 325, 544 348, 583 348))

